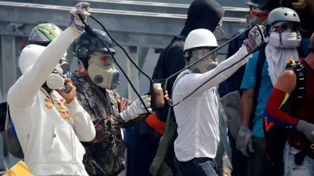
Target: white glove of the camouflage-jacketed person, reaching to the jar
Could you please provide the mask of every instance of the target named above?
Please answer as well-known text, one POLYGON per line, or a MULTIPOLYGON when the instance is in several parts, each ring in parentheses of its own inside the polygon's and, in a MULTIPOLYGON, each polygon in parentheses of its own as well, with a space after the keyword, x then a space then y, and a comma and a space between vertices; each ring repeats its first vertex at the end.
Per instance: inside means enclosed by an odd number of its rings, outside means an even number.
MULTIPOLYGON (((152 112, 151 98, 149 97, 149 95, 144 95, 141 98, 144 101, 147 109, 150 112, 152 112)), ((135 119, 136 117, 138 117, 139 115, 144 114, 144 113, 147 113, 147 111, 145 110, 145 107, 142 104, 142 102, 139 99, 137 99, 130 106, 128 106, 128 108, 126 110, 120 112, 120 117, 125 122, 128 122, 128 121, 135 119)))

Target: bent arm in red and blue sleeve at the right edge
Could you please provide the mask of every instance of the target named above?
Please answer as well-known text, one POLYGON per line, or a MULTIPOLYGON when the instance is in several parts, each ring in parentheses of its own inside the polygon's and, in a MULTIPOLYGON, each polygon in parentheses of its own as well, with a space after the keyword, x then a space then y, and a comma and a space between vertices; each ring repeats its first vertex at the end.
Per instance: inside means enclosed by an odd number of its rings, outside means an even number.
POLYGON ((292 70, 285 70, 282 72, 265 106, 264 118, 286 128, 296 128, 298 119, 280 110, 288 100, 288 97, 294 90, 295 86, 295 73, 292 70))

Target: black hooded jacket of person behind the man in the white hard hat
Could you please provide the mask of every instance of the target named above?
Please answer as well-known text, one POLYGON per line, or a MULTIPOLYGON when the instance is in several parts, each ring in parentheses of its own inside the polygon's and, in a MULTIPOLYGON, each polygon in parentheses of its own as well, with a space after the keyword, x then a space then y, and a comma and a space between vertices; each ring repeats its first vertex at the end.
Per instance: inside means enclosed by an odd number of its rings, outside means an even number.
MULTIPOLYGON (((183 47, 186 36, 192 30, 201 28, 214 32, 224 13, 225 10, 216 0, 194 0, 188 8, 187 19, 180 37, 174 37, 171 43, 162 51, 152 78, 156 80, 166 79, 183 69, 185 66, 183 47)), ((167 84, 166 90, 168 91, 169 97, 171 96, 172 87, 177 76, 170 79, 167 84)), ((161 110, 156 110, 157 118, 160 121, 166 122, 168 110, 168 106, 161 110)))

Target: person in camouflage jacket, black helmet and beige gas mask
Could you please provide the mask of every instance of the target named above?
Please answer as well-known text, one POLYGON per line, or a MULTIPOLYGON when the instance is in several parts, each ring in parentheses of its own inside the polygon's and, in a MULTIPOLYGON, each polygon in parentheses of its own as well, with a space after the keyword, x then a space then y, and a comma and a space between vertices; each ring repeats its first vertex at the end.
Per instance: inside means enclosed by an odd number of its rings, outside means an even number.
MULTIPOLYGON (((94 32, 105 42, 111 53, 116 53, 108 35, 98 29, 94 32)), ((78 58, 78 71, 71 75, 77 87, 76 97, 90 115, 96 129, 91 142, 83 142, 86 149, 83 163, 89 176, 118 176, 125 169, 126 144, 121 128, 142 122, 151 109, 149 95, 130 102, 120 98, 115 88, 120 84, 119 71, 105 45, 84 32, 75 42, 73 55, 78 58)))

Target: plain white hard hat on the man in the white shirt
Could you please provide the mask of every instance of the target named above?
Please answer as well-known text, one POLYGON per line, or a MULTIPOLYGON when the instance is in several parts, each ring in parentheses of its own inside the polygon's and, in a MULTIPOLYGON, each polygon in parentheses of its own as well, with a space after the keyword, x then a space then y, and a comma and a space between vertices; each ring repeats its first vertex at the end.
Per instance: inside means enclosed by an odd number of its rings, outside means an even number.
POLYGON ((207 29, 192 30, 185 39, 183 52, 198 47, 218 47, 214 34, 207 29))

